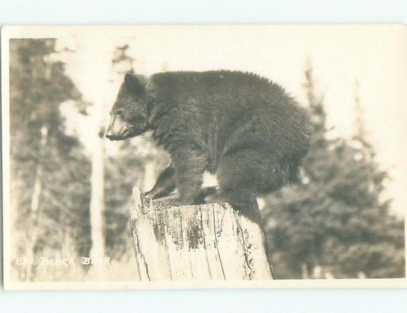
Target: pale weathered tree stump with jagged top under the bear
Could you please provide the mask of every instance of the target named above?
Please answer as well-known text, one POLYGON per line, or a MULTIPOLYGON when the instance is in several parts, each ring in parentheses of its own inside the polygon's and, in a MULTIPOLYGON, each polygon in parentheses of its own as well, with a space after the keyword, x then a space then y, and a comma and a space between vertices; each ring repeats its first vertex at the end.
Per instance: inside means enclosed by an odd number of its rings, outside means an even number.
POLYGON ((141 280, 272 279, 262 227, 229 204, 168 207, 137 187, 133 196, 129 224, 141 280))

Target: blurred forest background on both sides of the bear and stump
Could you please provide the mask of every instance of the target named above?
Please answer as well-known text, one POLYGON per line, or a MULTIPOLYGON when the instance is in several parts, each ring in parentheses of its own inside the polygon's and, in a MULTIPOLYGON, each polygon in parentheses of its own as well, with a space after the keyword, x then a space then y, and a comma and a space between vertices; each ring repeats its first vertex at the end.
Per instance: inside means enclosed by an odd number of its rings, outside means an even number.
MULTIPOLYGON (((119 86, 133 69, 128 48, 113 51, 106 84, 119 86)), ((56 49, 56 39, 10 40, 12 279, 136 280, 131 188, 152 187, 169 157, 150 134, 106 149, 106 108, 83 100, 66 53, 76 52, 56 49), (67 106, 86 124, 91 149, 68 129, 67 106), (89 257, 102 261, 82 264, 89 257)), ((312 66, 304 68, 315 133, 302 182, 265 197, 261 210, 276 276, 404 277, 404 221, 383 196, 389 177, 366 139, 357 83, 357 131, 333 137, 312 66)))

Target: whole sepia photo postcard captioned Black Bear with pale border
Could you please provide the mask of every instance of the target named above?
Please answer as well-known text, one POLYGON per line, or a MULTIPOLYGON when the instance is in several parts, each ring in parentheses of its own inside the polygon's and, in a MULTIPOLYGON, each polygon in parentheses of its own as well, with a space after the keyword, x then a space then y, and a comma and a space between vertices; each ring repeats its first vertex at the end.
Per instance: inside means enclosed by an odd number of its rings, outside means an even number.
POLYGON ((3 27, 5 288, 407 287, 406 35, 3 27))

